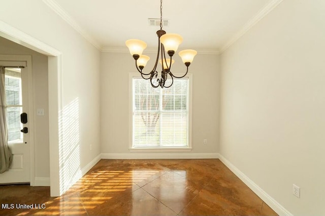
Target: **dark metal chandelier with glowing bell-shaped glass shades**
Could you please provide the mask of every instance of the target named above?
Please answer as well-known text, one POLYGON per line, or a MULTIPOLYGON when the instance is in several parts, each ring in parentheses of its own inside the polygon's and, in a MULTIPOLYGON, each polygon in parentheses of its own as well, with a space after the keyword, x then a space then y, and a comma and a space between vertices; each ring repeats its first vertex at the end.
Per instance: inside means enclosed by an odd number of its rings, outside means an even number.
POLYGON ((188 72, 188 66, 193 61, 195 55, 197 55, 197 51, 195 50, 182 50, 178 53, 178 55, 182 58, 183 63, 186 66, 186 72, 183 76, 175 76, 172 71, 171 67, 172 64, 175 62, 172 57, 174 56, 175 52, 178 49, 178 46, 183 41, 183 38, 179 34, 173 33, 166 33, 163 30, 163 0, 160 0, 160 30, 158 30, 158 50, 157 50, 157 58, 156 62, 153 66, 153 69, 149 73, 142 72, 143 68, 146 66, 147 62, 149 61, 149 56, 142 55, 144 49, 146 49, 147 44, 138 39, 129 39, 125 41, 126 47, 129 49, 129 52, 136 60, 136 68, 140 72, 142 78, 150 79, 151 86, 153 88, 161 87, 161 88, 169 88, 173 85, 174 78, 183 78, 186 76, 188 72), (166 58, 166 51, 169 58, 166 58), (160 60, 159 60, 160 56, 160 60), (157 64, 161 64, 161 78, 157 78, 157 64), (156 84, 152 81, 156 79, 156 84), (170 79, 171 84, 167 83, 166 81, 170 79), (166 85, 167 84, 167 85, 166 85))

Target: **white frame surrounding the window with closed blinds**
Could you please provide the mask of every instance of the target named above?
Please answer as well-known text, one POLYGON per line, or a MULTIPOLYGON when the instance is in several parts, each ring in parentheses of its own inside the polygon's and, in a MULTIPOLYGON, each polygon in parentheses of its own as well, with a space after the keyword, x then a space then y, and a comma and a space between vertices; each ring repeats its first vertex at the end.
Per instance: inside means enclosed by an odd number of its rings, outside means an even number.
MULTIPOLYGON (((176 74, 182 76, 184 74, 176 74)), ((129 73, 129 151, 131 152, 189 152, 192 150, 192 74, 186 74, 188 79, 188 146, 186 147, 134 147, 133 146, 133 79, 141 78, 140 73, 129 73)), ((150 82, 150 80, 146 80, 150 82)), ((160 88, 160 87, 158 87, 160 88)))

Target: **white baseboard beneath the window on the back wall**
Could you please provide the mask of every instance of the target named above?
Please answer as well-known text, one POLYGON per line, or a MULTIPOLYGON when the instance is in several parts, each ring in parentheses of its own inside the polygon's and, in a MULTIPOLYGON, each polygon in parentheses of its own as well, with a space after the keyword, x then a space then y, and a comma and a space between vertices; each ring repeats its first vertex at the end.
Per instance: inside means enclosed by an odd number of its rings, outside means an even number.
POLYGON ((183 152, 163 152, 163 153, 102 153, 102 159, 208 159, 219 158, 218 153, 183 153, 183 152))

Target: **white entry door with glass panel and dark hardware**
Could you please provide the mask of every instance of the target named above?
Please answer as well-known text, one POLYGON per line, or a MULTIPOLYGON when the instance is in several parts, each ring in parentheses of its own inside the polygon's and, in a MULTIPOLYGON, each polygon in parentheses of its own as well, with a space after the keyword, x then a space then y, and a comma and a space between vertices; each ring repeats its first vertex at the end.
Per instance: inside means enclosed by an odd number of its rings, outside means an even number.
MULTIPOLYGON (((25 62, 4 62, 2 66, 18 66, 25 62)), ((8 146, 13 154, 10 169, 0 174, 0 184, 30 182, 30 143, 28 119, 28 74, 26 68, 6 67, 8 146), (22 113, 24 116, 21 116, 22 113), (27 118, 25 117, 27 116, 27 118), (23 123, 22 123, 23 122, 23 123)))

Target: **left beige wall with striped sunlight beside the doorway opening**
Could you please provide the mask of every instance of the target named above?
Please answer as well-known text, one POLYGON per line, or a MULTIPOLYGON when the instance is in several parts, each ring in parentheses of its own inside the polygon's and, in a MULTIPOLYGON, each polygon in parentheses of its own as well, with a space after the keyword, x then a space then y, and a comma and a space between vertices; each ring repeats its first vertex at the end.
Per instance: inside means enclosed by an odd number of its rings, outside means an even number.
MULTIPOLYGON (((100 155, 101 53, 43 1, 2 1, 0 20, 61 53, 58 102, 61 119, 49 118, 53 119, 49 126, 55 129, 54 119, 59 121, 59 138, 55 136, 59 144, 50 140, 50 144, 53 143, 50 146, 53 150, 50 152, 51 184, 55 185, 51 194, 58 195, 58 190, 66 191, 100 155)), ((55 73, 48 75, 57 79, 55 73)), ((48 94, 51 98, 57 91, 50 88, 48 94)))

